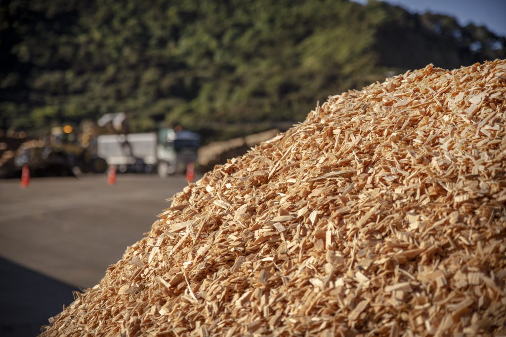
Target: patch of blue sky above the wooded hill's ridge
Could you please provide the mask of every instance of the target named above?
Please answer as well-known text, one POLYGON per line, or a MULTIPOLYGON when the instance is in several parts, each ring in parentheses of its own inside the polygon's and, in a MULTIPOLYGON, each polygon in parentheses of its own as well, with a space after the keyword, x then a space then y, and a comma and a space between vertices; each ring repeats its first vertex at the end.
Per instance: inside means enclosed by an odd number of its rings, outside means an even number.
MULTIPOLYGON (((365 4, 367 0, 354 0, 365 4)), ((410 12, 447 14, 458 19, 461 25, 473 22, 487 26, 499 35, 506 35, 506 0, 387 0, 410 12)))

